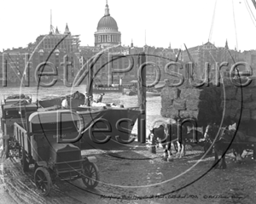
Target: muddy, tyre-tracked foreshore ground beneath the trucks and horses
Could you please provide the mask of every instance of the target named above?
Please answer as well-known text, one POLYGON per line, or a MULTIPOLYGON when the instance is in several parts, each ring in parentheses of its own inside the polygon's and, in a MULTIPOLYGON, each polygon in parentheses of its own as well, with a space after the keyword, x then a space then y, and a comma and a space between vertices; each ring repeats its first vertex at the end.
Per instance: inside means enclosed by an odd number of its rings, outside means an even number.
POLYGON ((162 150, 158 149, 154 155, 137 143, 119 150, 84 150, 82 153, 97 157, 101 179, 96 190, 87 190, 80 180, 58 181, 50 195, 42 197, 33 182, 32 166, 29 173, 22 173, 19 159, 12 158, 1 163, 1 201, 61 204, 249 204, 256 201, 256 162, 250 154, 243 164, 236 163, 232 154, 228 154, 228 168, 222 170, 211 169, 213 156, 201 159, 201 147, 189 147, 187 156, 174 161, 162 161, 162 150), (196 164, 199 159, 201 162, 196 164))

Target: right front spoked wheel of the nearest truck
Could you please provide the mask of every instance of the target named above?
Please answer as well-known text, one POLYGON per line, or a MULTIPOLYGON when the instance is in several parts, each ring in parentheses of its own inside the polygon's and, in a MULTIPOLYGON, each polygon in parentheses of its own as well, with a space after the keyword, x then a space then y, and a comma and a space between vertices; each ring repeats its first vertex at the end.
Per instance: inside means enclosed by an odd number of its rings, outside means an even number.
POLYGON ((95 163, 83 163, 83 182, 87 188, 94 189, 99 183, 99 170, 95 163))

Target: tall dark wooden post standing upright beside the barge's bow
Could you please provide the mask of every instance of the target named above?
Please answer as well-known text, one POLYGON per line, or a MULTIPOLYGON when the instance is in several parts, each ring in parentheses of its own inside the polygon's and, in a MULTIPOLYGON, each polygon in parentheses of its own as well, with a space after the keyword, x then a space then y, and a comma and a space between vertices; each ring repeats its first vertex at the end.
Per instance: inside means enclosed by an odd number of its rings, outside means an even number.
POLYGON ((146 67, 142 68, 143 63, 146 62, 146 55, 142 53, 138 58, 138 76, 137 76, 137 96, 138 105, 140 107, 141 114, 138 116, 137 122, 137 137, 138 142, 146 143, 146 67))

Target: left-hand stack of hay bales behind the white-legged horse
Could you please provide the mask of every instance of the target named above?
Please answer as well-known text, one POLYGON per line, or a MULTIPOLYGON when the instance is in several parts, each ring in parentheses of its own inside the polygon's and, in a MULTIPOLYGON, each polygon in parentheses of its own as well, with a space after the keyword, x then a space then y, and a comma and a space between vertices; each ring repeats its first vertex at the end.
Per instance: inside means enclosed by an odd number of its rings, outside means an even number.
POLYGON ((166 87, 161 91, 161 116, 175 120, 193 118, 198 126, 220 120, 221 87, 210 83, 208 87, 203 85, 195 88, 192 86, 195 82, 190 83, 189 80, 177 87, 168 86, 174 83, 176 82, 166 82, 166 87))

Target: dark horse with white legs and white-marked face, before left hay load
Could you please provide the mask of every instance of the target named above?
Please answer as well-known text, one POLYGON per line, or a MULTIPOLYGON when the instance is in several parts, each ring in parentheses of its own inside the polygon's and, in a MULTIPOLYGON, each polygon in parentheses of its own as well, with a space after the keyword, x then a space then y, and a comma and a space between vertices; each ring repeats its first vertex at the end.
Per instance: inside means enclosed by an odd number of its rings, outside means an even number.
POLYGON ((166 161, 173 161, 171 144, 174 145, 174 141, 177 142, 177 157, 183 157, 185 155, 185 137, 187 136, 187 128, 181 127, 182 137, 177 137, 177 123, 164 123, 159 127, 154 127, 149 130, 148 140, 151 141, 151 144, 157 144, 160 139, 160 144, 164 148, 163 159, 166 161), (173 138, 173 140, 172 140, 173 138), (168 156, 167 156, 168 153, 168 156))

